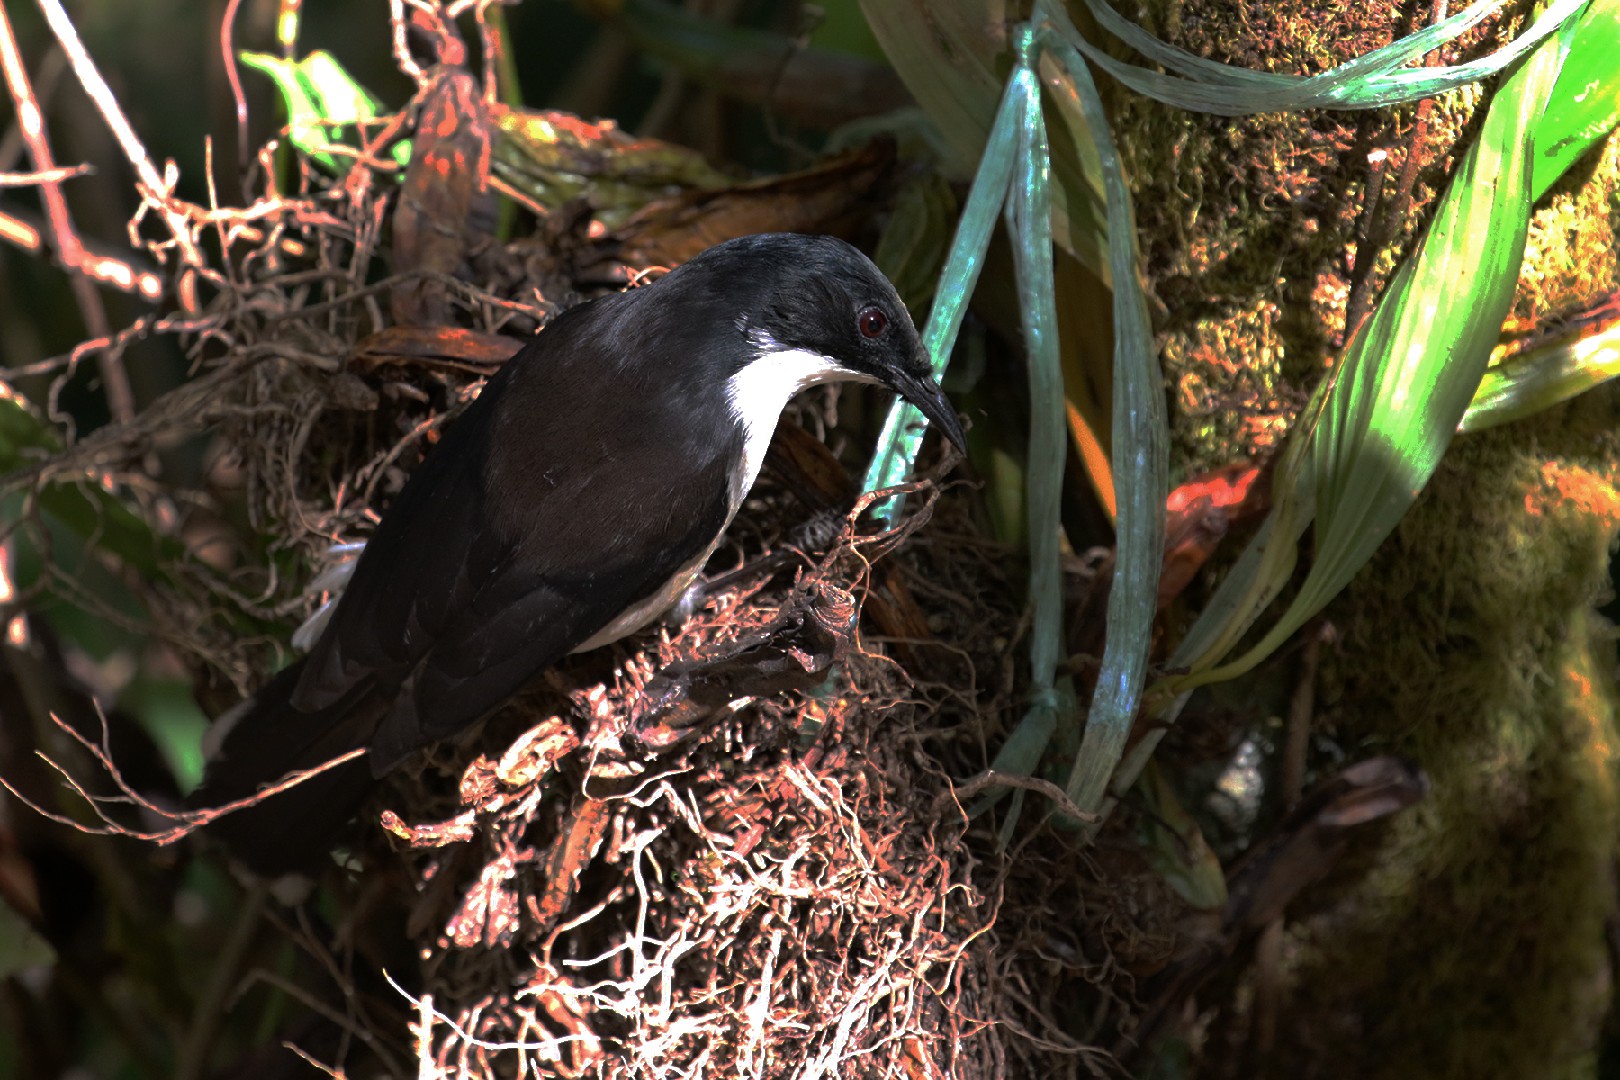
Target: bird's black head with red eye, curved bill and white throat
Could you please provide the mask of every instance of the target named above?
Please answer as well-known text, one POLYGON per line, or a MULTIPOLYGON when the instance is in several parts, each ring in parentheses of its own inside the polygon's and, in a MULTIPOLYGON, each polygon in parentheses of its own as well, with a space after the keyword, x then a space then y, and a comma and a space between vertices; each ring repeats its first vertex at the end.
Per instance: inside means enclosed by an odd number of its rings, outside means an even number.
POLYGON ((726 288, 742 313, 740 377, 732 379, 739 395, 758 389, 774 398, 781 387, 791 393, 816 382, 878 382, 964 447, 962 426, 933 381, 906 304, 854 246, 833 236, 761 233, 716 244, 676 274, 688 287, 703 279, 726 288))

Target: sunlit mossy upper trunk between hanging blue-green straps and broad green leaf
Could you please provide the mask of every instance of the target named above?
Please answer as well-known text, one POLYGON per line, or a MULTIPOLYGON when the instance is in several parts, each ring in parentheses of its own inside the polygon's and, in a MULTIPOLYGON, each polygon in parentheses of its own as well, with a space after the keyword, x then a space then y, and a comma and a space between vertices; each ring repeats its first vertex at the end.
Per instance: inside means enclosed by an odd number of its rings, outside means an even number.
MULTIPOLYGON (((1189 52, 1290 73, 1324 71, 1411 29, 1405 8, 1309 0, 1149 0, 1121 11, 1189 52)), ((1503 40, 1518 18, 1487 21, 1447 60, 1503 40)), ((1341 345, 1358 279, 1377 298, 1422 233, 1482 97, 1469 87, 1434 99, 1419 134, 1418 105, 1226 118, 1115 87, 1173 449, 1187 473, 1275 450, 1341 345), (1414 185, 1398 198, 1413 152, 1414 185)))

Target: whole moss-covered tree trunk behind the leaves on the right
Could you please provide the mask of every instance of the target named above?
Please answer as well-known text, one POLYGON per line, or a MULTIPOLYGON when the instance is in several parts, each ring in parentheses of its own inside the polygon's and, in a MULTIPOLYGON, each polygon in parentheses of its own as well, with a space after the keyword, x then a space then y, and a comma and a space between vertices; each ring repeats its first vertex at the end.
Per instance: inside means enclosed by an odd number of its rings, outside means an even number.
MULTIPOLYGON (((1275 71, 1324 70, 1426 18, 1377 5, 1324 18, 1306 0, 1118 6, 1184 49, 1275 71)), ((1510 37, 1528 5, 1513 8, 1445 58, 1510 37)), ((1375 300, 1422 235, 1482 100, 1482 89, 1435 99, 1414 138, 1416 105, 1228 120, 1113 94, 1178 470, 1277 445, 1341 345, 1358 261, 1372 266, 1375 300), (1419 168, 1401 206, 1413 147, 1419 168), (1369 206, 1400 217, 1369 223, 1369 206)), ((1612 141, 1537 207, 1521 317, 1555 321, 1615 288, 1617 178, 1612 141)), ((1343 644, 1319 688, 1325 742, 1405 755, 1434 790, 1371 831, 1307 894, 1315 907, 1296 912, 1264 1075, 1594 1075, 1620 844, 1615 654, 1596 612, 1620 533, 1615 431, 1610 387, 1461 439, 1330 610, 1343 644)), ((1243 1012, 1251 999, 1223 1004, 1243 1012)), ((1241 1027, 1233 1012, 1213 1015, 1233 1025, 1212 1035, 1204 1067, 1233 1075, 1213 1048, 1241 1040, 1241 1027)))

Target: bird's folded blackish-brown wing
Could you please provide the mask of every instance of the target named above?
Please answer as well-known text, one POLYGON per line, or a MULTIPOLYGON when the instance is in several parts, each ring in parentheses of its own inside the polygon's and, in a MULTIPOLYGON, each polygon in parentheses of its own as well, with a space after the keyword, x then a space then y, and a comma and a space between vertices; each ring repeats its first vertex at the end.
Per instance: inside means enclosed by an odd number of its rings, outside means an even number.
POLYGON ((392 699, 371 742, 377 774, 658 593, 724 528, 734 449, 692 431, 690 403, 552 363, 569 342, 546 335, 395 499, 292 693, 303 711, 360 685, 392 699))

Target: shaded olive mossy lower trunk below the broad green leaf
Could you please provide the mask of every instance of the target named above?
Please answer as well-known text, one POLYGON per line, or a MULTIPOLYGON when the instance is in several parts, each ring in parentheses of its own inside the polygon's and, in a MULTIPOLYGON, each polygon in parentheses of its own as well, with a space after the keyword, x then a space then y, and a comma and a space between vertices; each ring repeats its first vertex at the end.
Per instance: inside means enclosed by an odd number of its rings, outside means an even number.
POLYGON ((1293 928, 1270 1075, 1589 1077, 1615 912, 1620 393, 1461 440, 1333 610, 1338 735, 1430 797, 1293 928), (1327 1062, 1328 1070, 1322 1072, 1327 1062))

